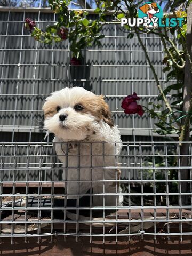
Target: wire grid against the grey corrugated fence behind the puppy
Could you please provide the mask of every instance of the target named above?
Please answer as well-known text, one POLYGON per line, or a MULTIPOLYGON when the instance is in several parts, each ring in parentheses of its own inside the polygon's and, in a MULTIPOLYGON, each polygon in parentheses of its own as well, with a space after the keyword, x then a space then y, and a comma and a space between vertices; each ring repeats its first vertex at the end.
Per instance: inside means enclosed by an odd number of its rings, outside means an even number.
MULTIPOLYGON (((12 141, 17 132, 28 132, 28 141, 33 141, 31 133, 42 132, 43 100, 65 86, 84 86, 95 94, 105 95, 122 135, 133 135, 134 138, 145 135, 153 140, 154 119, 147 114, 127 116, 121 108, 123 98, 134 91, 140 95, 139 103, 143 106, 148 106, 150 101, 158 102, 158 90, 137 38, 127 39, 121 28, 109 25, 103 30, 102 47, 86 49, 83 65, 74 67, 69 64, 68 42, 46 46, 34 41, 24 29, 27 17, 44 29, 57 21, 55 14, 45 13, 44 9, 33 13, 26 12, 27 9, 20 12, 2 10, 1 131, 11 132, 12 141)), ((163 46, 156 36, 146 35, 142 40, 164 87, 163 46)), ((169 81, 170 84, 173 82, 169 81)), ((175 100, 171 95, 168 97, 175 100)))

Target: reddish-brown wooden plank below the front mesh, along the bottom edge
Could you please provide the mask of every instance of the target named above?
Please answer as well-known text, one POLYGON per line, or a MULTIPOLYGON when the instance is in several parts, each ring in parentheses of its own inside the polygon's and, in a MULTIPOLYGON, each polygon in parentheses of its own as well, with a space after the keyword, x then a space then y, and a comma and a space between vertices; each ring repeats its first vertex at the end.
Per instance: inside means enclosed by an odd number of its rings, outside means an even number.
POLYGON ((184 237, 183 241, 179 241, 178 237, 168 239, 153 237, 145 237, 141 240, 134 237, 131 241, 118 241, 117 243, 106 238, 103 244, 99 238, 93 239, 90 243, 89 238, 80 238, 79 242, 75 242, 74 237, 69 237, 66 242, 63 237, 55 237, 53 242, 50 238, 43 238, 42 243, 38 244, 36 238, 28 239, 27 243, 23 243, 22 238, 15 239, 14 244, 10 244, 10 240, 2 239, 0 244, 0 253, 4 256, 162 256, 162 255, 183 255, 191 256, 191 237, 184 237))

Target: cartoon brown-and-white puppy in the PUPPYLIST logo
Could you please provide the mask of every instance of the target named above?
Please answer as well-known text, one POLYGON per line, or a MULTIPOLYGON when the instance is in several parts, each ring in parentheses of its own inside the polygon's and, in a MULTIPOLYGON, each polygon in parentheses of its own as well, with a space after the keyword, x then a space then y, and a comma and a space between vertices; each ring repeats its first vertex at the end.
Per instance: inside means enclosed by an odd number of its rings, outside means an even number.
MULTIPOLYGON (((157 7, 156 3, 150 3, 150 4, 144 4, 139 8, 143 13, 147 14, 147 18, 151 19, 151 18, 157 18, 156 16, 154 16, 154 14, 159 12, 159 9, 157 7)), ((152 27, 151 24, 147 24, 146 22, 143 23, 143 25, 147 28, 147 27, 152 27)), ((155 22, 153 27, 157 27, 158 24, 155 22)))

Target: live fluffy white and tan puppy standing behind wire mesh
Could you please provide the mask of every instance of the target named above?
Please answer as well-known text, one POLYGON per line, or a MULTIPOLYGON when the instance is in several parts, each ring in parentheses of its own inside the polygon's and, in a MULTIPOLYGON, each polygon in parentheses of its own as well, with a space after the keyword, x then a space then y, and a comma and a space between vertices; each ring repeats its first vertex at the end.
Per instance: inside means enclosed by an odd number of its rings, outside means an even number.
POLYGON ((103 96, 66 87, 46 98, 43 111, 44 127, 55 134, 58 158, 68 169, 67 198, 81 198, 91 190, 92 206, 121 206, 117 156, 122 145, 103 96))

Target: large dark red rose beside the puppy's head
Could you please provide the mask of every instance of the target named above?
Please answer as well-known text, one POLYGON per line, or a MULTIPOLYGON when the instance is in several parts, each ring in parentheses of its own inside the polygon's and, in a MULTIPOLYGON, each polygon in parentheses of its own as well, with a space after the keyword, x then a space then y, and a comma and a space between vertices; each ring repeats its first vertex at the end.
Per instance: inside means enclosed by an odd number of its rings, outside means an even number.
POLYGON ((124 109, 125 114, 138 114, 140 116, 143 115, 144 111, 141 105, 137 104, 137 100, 139 100, 137 93, 133 93, 128 95, 122 102, 122 108, 124 109))

